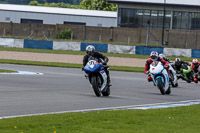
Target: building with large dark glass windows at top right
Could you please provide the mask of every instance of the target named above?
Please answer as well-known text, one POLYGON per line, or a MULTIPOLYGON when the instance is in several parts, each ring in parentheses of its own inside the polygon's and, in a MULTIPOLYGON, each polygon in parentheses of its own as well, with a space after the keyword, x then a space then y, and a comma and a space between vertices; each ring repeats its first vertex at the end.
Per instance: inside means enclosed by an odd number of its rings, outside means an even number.
POLYGON ((119 27, 200 29, 199 0, 108 0, 118 4, 119 27), (165 14, 165 18, 163 18, 165 14))

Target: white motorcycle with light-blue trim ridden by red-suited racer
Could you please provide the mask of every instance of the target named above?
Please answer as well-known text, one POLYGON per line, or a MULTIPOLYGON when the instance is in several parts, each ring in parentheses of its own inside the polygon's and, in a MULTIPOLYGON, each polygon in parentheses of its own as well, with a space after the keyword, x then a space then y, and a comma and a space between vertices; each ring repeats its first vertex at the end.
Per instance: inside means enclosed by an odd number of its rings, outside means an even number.
POLYGON ((154 61, 150 65, 150 75, 154 85, 158 87, 162 95, 171 93, 169 76, 161 62, 154 61))

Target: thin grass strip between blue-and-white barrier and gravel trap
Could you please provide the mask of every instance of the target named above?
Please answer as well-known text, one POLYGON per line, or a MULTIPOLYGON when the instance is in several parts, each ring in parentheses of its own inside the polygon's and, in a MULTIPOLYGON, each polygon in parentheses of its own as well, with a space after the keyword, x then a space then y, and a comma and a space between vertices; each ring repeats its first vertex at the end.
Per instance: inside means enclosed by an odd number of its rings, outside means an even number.
MULTIPOLYGON (((83 51, 68 51, 68 50, 45 50, 45 49, 29 49, 29 48, 7 48, 0 47, 0 51, 18 51, 18 52, 33 52, 33 53, 53 53, 53 54, 72 54, 72 55, 85 55, 83 51)), ((123 58, 139 58, 147 59, 149 55, 130 55, 130 54, 115 54, 115 53, 103 53, 108 57, 123 57, 123 58)), ((184 61, 192 61, 193 58, 181 57, 184 61)), ((177 57, 168 56, 171 60, 175 60, 177 57)))

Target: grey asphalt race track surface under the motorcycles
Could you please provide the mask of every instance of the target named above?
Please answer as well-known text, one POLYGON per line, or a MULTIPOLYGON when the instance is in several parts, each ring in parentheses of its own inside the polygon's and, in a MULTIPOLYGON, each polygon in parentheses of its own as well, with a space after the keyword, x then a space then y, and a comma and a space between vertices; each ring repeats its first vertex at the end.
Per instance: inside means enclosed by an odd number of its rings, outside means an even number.
POLYGON ((199 84, 179 81, 171 95, 161 95, 143 73, 111 71, 111 95, 96 97, 80 69, 8 64, 0 69, 44 73, 0 74, 0 117, 197 100, 200 94, 199 84))

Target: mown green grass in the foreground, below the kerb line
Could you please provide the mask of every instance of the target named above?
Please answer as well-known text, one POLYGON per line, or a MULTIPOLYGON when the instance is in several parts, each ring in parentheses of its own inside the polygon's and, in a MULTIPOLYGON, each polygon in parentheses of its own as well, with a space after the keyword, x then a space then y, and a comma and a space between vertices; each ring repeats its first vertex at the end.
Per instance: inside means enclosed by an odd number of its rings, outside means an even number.
POLYGON ((2 133, 199 133, 200 105, 64 113, 0 120, 2 133))

